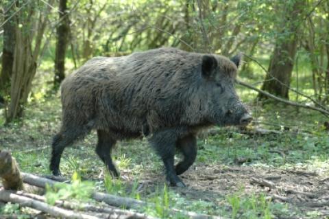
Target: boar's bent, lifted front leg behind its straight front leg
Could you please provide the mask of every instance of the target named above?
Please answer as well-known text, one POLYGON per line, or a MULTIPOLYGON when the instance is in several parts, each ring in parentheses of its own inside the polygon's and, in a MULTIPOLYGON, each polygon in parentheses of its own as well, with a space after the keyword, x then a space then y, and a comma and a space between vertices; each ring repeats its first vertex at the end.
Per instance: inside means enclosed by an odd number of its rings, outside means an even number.
POLYGON ((188 135, 177 142, 177 148, 182 152, 184 159, 176 165, 176 174, 180 175, 194 163, 197 157, 197 138, 194 135, 188 135))

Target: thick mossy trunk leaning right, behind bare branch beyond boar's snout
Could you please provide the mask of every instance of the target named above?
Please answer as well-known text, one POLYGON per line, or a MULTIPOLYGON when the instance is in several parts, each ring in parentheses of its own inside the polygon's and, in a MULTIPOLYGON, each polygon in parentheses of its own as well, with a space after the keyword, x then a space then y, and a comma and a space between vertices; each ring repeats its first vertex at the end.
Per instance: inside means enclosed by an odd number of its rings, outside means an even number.
MULTIPOLYGON (((282 20, 283 30, 276 39, 269 70, 265 77, 262 90, 268 91, 273 95, 289 99, 289 86, 291 74, 293 71, 293 62, 297 51, 298 30, 302 22, 302 11, 305 1, 295 0, 291 9, 287 9, 282 20), (283 37, 282 37, 283 36, 283 37)), ((258 95, 260 99, 266 99, 263 94, 258 95)))

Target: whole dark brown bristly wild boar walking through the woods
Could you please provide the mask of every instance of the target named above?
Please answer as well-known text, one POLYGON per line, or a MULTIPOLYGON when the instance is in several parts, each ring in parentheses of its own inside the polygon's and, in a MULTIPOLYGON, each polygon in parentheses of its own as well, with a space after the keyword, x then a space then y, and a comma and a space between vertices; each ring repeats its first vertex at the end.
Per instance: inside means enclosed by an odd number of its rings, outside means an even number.
POLYGON ((53 137, 50 170, 60 174, 64 148, 97 130, 96 153, 119 176, 114 144, 144 135, 162 159, 167 181, 184 187, 178 175, 195 161, 200 130, 252 120, 234 90, 240 63, 240 56, 175 48, 89 60, 62 82, 62 126, 53 137), (184 158, 174 165, 176 149, 184 158))

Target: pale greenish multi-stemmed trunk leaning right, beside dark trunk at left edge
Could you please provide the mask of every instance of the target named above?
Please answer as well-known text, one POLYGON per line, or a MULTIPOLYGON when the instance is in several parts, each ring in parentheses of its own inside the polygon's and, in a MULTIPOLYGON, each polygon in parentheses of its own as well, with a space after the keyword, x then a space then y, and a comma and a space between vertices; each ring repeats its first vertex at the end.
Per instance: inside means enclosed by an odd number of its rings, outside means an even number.
MULTIPOLYGON (((24 2, 23 2, 24 3, 24 2)), ((32 32, 32 19, 36 19, 34 3, 25 6, 14 17, 15 25, 15 49, 14 49, 14 63, 12 68, 12 80, 10 84, 10 106, 6 115, 6 123, 11 122, 12 119, 22 117, 23 106, 27 103, 27 98, 32 89, 32 80, 36 74, 36 62, 40 52, 43 33, 47 25, 47 16, 49 15, 51 3, 45 12, 38 11, 38 23, 35 26, 37 30, 36 36, 32 32), (23 23, 21 27, 19 24, 23 23), (34 49, 32 47, 34 45, 34 49)))

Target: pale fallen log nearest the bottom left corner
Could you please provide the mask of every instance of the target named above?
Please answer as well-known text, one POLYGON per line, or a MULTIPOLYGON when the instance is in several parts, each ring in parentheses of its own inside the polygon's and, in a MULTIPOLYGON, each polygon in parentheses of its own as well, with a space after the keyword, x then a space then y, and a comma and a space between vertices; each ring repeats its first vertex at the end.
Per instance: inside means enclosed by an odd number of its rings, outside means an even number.
POLYGON ((38 209, 39 211, 46 212, 53 217, 61 218, 85 218, 85 219, 98 219, 99 217, 90 216, 88 214, 80 214, 74 211, 69 211, 62 209, 60 207, 51 206, 47 203, 34 200, 33 198, 27 198, 25 196, 19 196, 15 194, 14 191, 0 189, 0 200, 5 203, 16 203, 21 207, 31 207, 33 209, 38 209))

